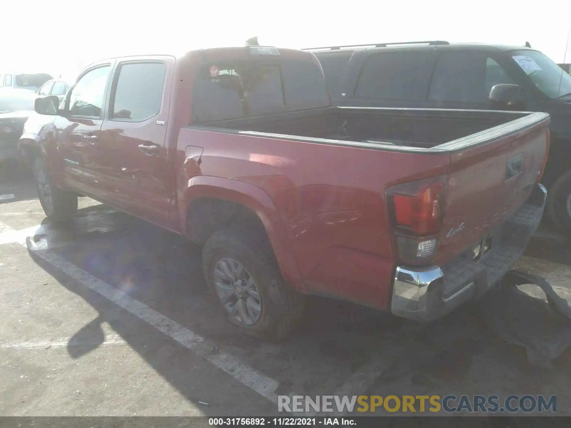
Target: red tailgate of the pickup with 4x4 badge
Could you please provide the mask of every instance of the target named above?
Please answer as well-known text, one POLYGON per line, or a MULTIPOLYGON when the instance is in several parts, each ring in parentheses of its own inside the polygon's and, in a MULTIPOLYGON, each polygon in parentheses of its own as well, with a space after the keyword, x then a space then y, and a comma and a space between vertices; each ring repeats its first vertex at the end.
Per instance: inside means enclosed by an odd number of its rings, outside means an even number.
POLYGON ((533 114, 440 146, 451 149, 451 164, 436 263, 488 237, 528 199, 549 149, 548 124, 549 115, 533 114))

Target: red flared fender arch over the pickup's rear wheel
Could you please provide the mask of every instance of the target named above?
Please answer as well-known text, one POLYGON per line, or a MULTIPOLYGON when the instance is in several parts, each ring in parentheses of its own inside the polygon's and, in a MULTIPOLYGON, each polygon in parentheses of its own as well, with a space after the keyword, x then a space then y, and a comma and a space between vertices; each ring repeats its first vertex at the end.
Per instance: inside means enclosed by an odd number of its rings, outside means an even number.
POLYGON ((283 277, 293 289, 305 292, 286 228, 273 201, 262 188, 222 177, 195 176, 188 180, 188 188, 179 195, 180 229, 185 235, 188 207, 199 197, 231 201, 255 212, 266 229, 283 277))

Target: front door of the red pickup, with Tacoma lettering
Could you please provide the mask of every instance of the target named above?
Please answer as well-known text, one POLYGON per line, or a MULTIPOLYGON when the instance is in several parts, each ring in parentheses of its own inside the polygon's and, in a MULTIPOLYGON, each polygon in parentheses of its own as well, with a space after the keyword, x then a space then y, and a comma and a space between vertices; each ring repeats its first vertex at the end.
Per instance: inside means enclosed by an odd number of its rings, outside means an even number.
POLYGON ((100 176, 100 132, 111 64, 86 71, 71 90, 66 117, 58 116, 55 128, 61 142, 66 184, 78 192, 105 198, 108 188, 100 176))

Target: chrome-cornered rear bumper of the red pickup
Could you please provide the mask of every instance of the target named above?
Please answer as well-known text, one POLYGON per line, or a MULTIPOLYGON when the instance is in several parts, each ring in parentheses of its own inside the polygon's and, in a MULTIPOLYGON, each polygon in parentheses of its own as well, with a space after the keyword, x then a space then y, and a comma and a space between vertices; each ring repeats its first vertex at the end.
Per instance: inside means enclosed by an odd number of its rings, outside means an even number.
POLYGON ((391 312, 413 320, 434 320, 498 284, 537 230, 546 196, 545 187, 536 184, 519 211, 494 231, 494 247, 477 262, 461 255, 442 267, 397 267, 391 312))

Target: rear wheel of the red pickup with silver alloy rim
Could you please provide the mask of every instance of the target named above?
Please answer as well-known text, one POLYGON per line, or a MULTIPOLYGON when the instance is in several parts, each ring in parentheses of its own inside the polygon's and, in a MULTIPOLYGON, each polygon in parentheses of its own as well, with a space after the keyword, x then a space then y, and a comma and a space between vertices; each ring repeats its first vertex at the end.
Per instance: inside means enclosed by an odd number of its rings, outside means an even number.
POLYGON ((305 296, 286 284, 266 236, 255 231, 215 232, 203 248, 204 277, 232 324, 250 336, 281 340, 299 325, 305 296))

